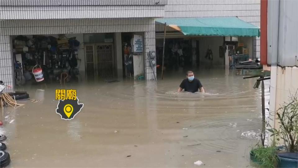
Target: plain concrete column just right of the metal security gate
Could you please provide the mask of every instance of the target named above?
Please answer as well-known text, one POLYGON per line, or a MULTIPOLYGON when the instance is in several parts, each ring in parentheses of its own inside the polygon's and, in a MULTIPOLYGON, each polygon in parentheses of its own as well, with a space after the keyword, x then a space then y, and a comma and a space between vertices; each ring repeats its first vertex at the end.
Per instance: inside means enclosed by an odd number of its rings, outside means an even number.
POLYGON ((117 76, 118 78, 123 78, 123 67, 122 67, 122 39, 121 33, 114 33, 114 40, 115 40, 115 63, 117 69, 117 76))

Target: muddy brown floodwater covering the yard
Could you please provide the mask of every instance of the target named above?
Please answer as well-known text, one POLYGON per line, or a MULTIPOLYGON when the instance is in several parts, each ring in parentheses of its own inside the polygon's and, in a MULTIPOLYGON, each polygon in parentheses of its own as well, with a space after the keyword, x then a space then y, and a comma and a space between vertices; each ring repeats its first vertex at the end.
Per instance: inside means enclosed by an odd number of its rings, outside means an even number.
MULTIPOLYGON (((201 70, 195 77, 207 93, 176 93, 184 76, 165 73, 157 84, 82 81, 20 88, 42 101, 2 111, 10 166, 197 167, 198 160, 205 164, 200 167, 250 165, 250 146, 261 129, 255 79, 201 70), (71 121, 55 112, 59 88, 77 89, 84 103, 71 121)), ((269 100, 269 82, 265 88, 269 100)))

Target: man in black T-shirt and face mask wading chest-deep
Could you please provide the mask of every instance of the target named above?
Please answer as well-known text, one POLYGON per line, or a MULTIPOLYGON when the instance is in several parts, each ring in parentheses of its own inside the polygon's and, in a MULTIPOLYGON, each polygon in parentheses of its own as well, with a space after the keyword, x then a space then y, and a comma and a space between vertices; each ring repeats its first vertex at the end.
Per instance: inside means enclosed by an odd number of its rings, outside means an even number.
POLYGON ((187 78, 181 82, 178 92, 180 92, 184 89, 184 91, 194 93, 194 92, 199 91, 199 89, 200 89, 200 91, 202 93, 205 93, 205 90, 204 90, 201 82, 195 78, 192 71, 187 71, 186 77, 187 78))

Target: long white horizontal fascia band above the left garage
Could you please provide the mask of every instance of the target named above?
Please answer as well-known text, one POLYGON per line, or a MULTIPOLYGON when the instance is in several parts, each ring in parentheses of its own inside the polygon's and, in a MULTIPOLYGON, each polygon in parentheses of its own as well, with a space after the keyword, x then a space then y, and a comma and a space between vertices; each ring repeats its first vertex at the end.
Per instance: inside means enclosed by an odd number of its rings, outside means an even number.
POLYGON ((164 6, 0 6, 0 20, 163 17, 164 6))

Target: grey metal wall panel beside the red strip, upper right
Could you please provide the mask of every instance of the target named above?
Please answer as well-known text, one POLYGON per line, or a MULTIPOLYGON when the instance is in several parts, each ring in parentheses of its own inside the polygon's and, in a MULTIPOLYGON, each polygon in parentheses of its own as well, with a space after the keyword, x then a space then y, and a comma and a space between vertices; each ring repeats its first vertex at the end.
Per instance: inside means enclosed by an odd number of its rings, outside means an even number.
POLYGON ((268 1, 269 65, 298 66, 298 1, 268 1))

